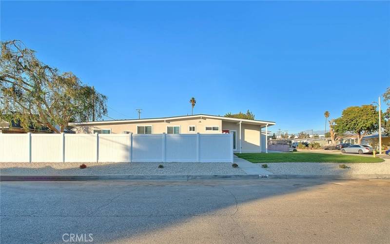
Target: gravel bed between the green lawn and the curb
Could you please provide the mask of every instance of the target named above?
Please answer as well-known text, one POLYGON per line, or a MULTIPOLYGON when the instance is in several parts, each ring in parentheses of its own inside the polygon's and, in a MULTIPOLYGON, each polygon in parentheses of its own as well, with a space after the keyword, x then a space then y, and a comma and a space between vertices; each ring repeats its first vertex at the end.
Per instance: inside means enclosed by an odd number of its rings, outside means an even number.
MULTIPOLYGON (((390 160, 382 163, 344 163, 350 168, 339 168, 342 163, 267 163, 273 174, 291 175, 370 175, 390 174, 390 160)), ((260 166, 260 165, 259 165, 260 166)))

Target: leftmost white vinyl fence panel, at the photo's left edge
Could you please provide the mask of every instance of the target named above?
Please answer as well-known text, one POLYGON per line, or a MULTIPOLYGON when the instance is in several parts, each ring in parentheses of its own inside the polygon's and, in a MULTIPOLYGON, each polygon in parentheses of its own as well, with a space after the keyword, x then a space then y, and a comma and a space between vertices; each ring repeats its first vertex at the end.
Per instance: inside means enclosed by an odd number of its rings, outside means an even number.
POLYGON ((30 134, 0 134, 0 162, 30 162, 30 134))

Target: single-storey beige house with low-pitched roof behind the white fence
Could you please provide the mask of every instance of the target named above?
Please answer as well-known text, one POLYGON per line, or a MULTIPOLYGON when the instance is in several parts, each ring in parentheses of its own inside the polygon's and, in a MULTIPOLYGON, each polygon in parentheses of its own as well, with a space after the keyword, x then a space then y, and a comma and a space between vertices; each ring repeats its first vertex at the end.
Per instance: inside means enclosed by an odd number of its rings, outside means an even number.
POLYGON ((101 134, 211 134, 233 133, 233 149, 236 152, 265 152, 268 150, 268 127, 275 122, 244 120, 215 115, 187 115, 177 117, 74 122, 76 133, 101 134), (265 133, 263 134, 265 130, 265 133), (260 136, 261 135, 261 136, 260 136))

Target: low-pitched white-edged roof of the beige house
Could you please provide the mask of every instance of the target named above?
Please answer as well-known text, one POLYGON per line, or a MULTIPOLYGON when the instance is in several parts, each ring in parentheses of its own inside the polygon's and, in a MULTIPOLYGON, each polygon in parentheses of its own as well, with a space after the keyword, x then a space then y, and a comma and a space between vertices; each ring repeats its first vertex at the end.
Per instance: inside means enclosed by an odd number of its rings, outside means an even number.
POLYGON ((162 118, 149 118, 149 119, 132 119, 132 120, 110 120, 110 121, 93 121, 93 122, 73 122, 69 123, 70 126, 77 125, 86 125, 86 124, 115 124, 115 123, 134 123, 134 122, 153 122, 153 121, 174 121, 174 120, 185 120, 185 119, 196 119, 196 118, 209 118, 217 119, 227 122, 242 122, 246 124, 257 124, 257 125, 266 125, 269 126, 276 124, 272 121, 260 121, 260 120, 244 120, 237 118, 229 118, 224 116, 216 115, 207 115, 207 114, 195 114, 195 115, 185 115, 185 116, 174 116, 174 117, 162 117, 162 118))

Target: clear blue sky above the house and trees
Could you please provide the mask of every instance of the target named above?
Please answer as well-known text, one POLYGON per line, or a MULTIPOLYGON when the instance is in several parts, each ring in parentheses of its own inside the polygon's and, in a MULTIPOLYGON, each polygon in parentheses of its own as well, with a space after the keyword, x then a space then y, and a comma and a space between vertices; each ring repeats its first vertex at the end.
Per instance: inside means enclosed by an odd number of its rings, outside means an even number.
MULTIPOLYGON (((1 40, 108 96, 115 119, 254 112, 299 132, 390 86, 390 2, 1 1, 1 40)), ((108 119, 108 118, 106 118, 108 119)))

